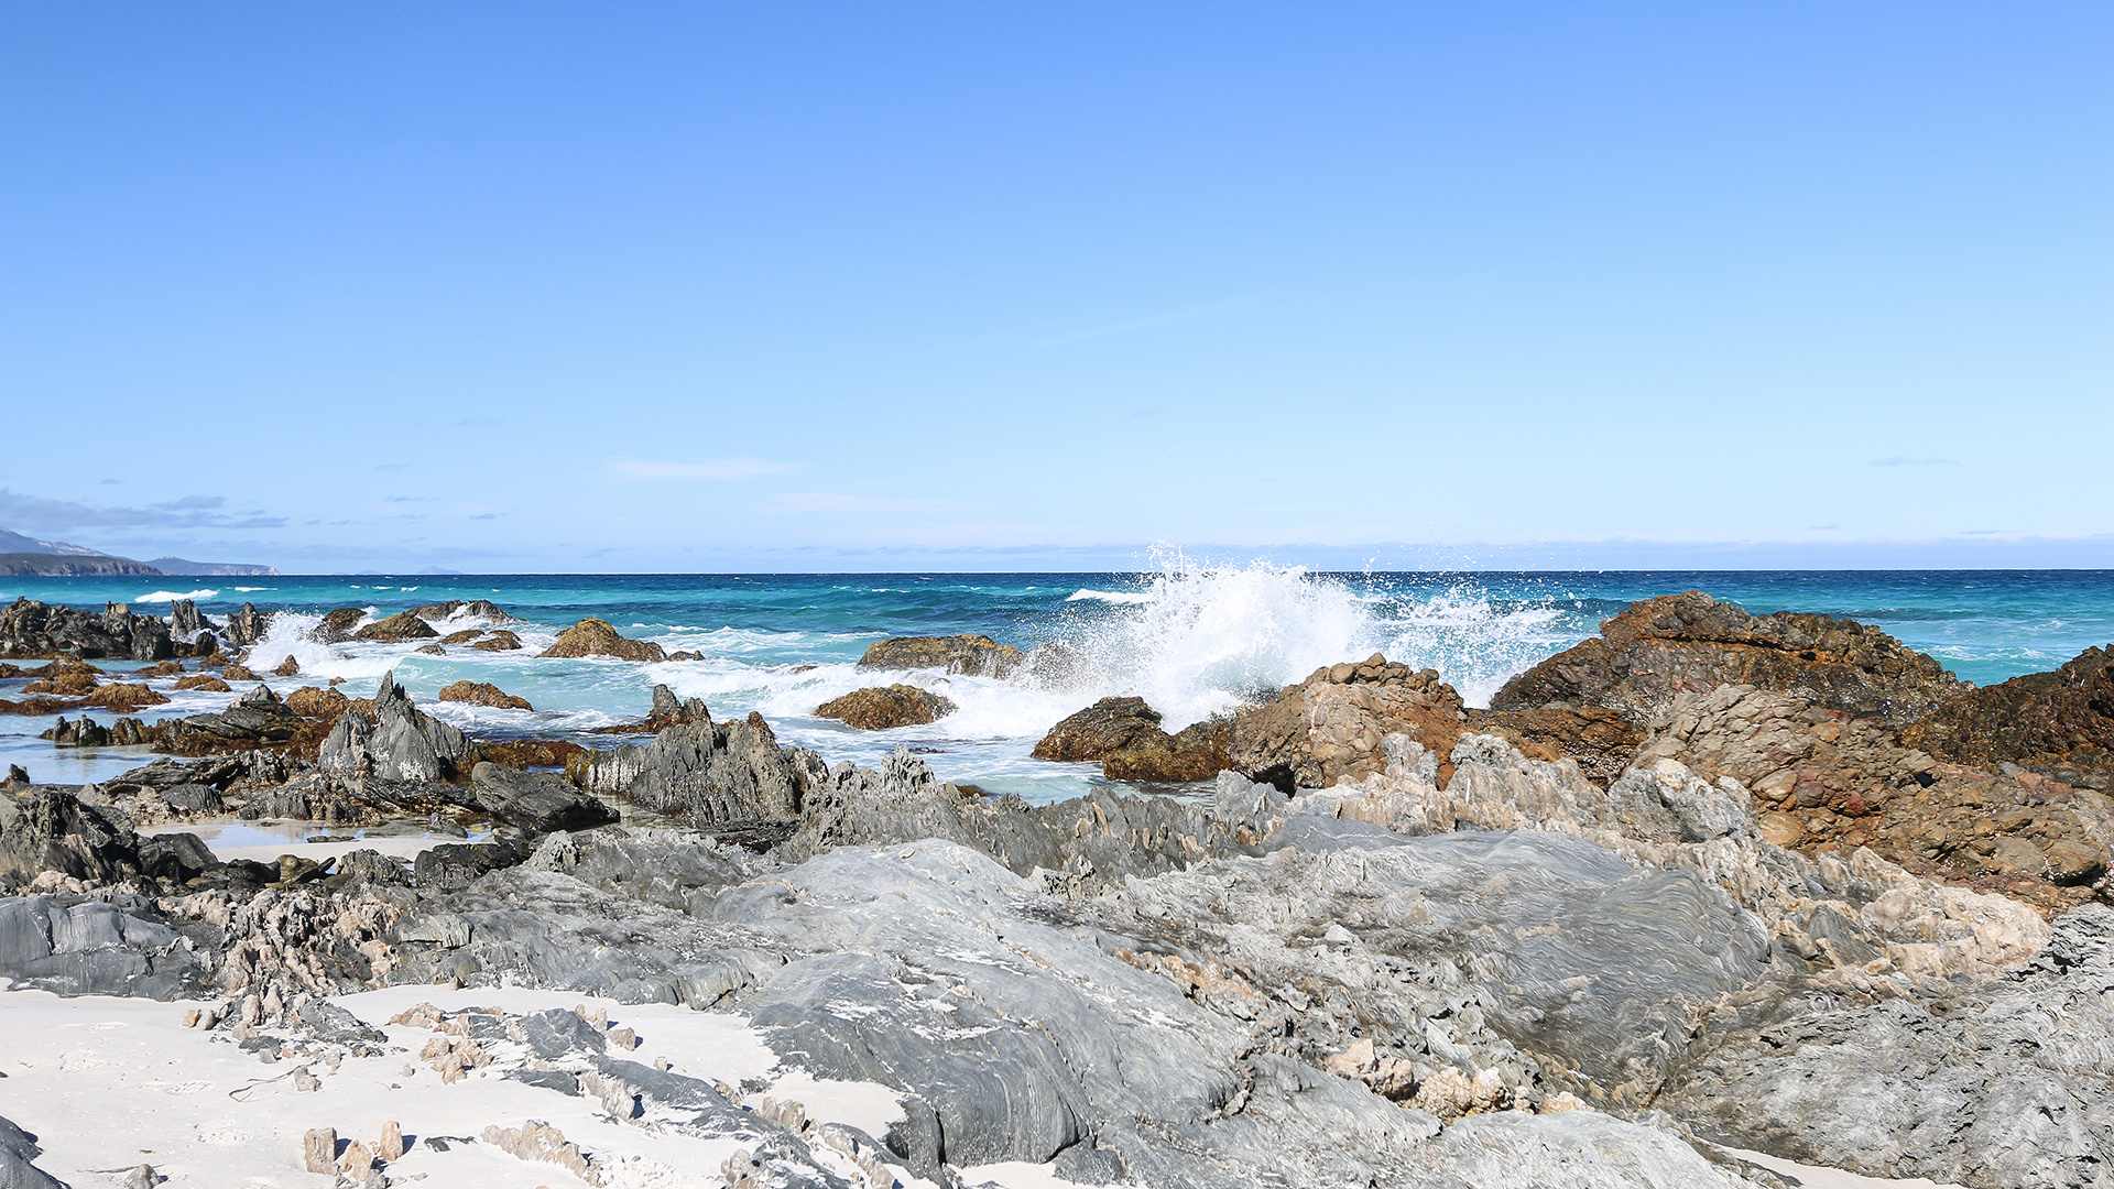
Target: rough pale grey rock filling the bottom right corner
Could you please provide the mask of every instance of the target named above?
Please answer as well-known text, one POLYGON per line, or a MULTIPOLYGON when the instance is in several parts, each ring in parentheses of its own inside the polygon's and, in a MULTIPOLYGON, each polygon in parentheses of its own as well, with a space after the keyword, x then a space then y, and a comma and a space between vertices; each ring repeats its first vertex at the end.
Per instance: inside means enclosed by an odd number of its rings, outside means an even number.
POLYGON ((1814 999, 1738 1022, 1659 1100, 1708 1138, 1865 1176, 2106 1183, 2114 910, 2061 916, 2027 967, 1930 1003, 1814 999))

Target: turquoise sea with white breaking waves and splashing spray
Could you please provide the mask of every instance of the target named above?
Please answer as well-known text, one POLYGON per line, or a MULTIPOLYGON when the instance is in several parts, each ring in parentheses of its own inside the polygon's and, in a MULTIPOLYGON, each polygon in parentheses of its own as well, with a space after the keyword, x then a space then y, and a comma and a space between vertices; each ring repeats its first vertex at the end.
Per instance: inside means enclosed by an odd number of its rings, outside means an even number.
MULTIPOLYGON (((165 609, 188 597, 207 616, 243 601, 290 611, 252 654, 262 671, 294 656, 302 677, 342 677, 366 694, 395 669, 414 698, 476 734, 575 736, 634 721, 655 681, 704 698, 717 717, 761 711, 784 743, 827 760, 875 762, 896 745, 920 749, 947 779, 1030 800, 1076 795, 1093 766, 1044 764, 1027 751, 1051 724, 1106 694, 1139 694, 1180 728, 1243 696, 1298 681, 1321 664, 1385 652, 1433 666, 1471 705, 1520 669, 1598 630, 1634 599, 1700 588, 1753 611, 1822 611, 1877 624, 1977 683, 2053 669, 2089 645, 2114 643, 2114 571, 1668 571, 1668 573, 1306 573, 1251 565, 1169 573, 979 575, 450 575, 450 578, 0 578, 0 594, 99 609, 165 609), (526 620, 522 652, 414 645, 317 645, 302 639, 330 607, 376 618, 448 599, 490 599, 526 620), (630 664, 539 660, 558 630, 600 616, 628 637, 704 660, 630 664), (981 633, 1023 650, 1063 641, 1084 658, 1065 688, 937 673, 854 669, 869 643, 894 635, 981 633), (431 705, 457 679, 493 681, 535 711, 431 705), (924 728, 856 732, 814 719, 820 702, 860 685, 909 681, 960 711, 924 728)), ((463 622, 459 626, 478 626, 463 622)), ((440 626, 442 633, 450 626, 440 626)), ((421 641, 427 643, 427 641, 421 641)), ((104 669, 127 669, 99 662, 104 669)), ((167 683, 163 683, 167 685, 167 683)), ((15 698, 19 681, 0 681, 15 698)), ((173 694, 146 717, 220 709, 228 694, 173 694)), ((99 715, 106 717, 108 715, 99 715)), ((38 781, 91 781, 140 764, 137 753, 55 751, 36 732, 53 719, 0 717, 0 762, 38 781)))

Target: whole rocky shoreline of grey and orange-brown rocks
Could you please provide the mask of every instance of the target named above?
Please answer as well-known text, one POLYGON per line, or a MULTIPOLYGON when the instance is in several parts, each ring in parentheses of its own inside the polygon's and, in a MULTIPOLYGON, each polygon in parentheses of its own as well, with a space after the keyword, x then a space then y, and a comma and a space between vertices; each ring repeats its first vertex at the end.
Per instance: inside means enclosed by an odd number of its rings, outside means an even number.
MULTIPOLYGON (((361 630, 440 639, 457 609, 361 630)), ((239 650, 262 635, 252 607, 0 611, 0 656, 44 660, 8 673, 49 683, 36 713, 152 705, 97 658, 254 679, 239 650)), ((602 620, 545 656, 581 654, 664 656, 602 620)), ((939 637, 863 664, 1034 681, 1065 658, 939 637)), ((1974 688, 1850 620, 1687 592, 1634 603, 1490 709, 1383 656, 1173 734, 1104 698, 1038 755, 1209 793, 1044 806, 907 749, 831 766, 666 690, 641 743, 535 751, 463 736, 389 677, 372 698, 258 685, 214 715, 95 726, 169 753, 114 781, 11 779, 0 977, 180 999, 197 1030, 311 1064, 387 1047, 334 1007, 383 988, 683 1005, 744 1020, 782 1068, 894 1096, 886 1128, 822 1126, 712 1071, 624 1060, 579 1016, 421 1018, 461 1024, 419 1058, 438 1073, 484 1068, 490 1045, 524 1085, 738 1138, 710 1185, 953 1187, 1004 1161, 1152 1187, 1788 1185, 1736 1155, 1759 1151, 2097 1187, 2110 679, 2089 650, 1974 688), (230 817, 450 840, 222 861, 182 829, 230 817)), ((839 707, 854 728, 951 711, 903 683, 863 694, 839 707)), ((36 1145, 11 1134, 0 1168, 27 1170, 36 1145)), ((537 1136, 495 1121, 476 1142, 619 1183, 592 1145, 537 1136)), ((391 1159, 326 1164, 385 1185, 391 1159)))

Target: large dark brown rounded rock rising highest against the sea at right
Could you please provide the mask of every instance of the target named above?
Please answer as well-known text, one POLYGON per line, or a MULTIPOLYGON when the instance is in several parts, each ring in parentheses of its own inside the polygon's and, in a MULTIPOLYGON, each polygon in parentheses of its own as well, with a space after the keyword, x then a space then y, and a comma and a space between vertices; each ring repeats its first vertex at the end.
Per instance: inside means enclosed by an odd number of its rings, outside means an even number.
POLYGON ((1596 639, 1505 681, 1490 709, 1602 707, 1643 726, 1676 694, 1719 685, 1757 685, 1890 724, 1962 688, 1936 660, 1856 620, 1750 616, 1689 590, 1630 603, 1596 639))

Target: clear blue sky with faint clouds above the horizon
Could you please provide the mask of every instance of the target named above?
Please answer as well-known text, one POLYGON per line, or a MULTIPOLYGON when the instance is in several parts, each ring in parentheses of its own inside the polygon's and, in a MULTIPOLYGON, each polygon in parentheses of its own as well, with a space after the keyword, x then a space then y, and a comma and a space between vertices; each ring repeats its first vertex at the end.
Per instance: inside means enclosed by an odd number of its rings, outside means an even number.
POLYGON ((2110 565, 2106 4, 0 8, 0 527, 2110 565))

